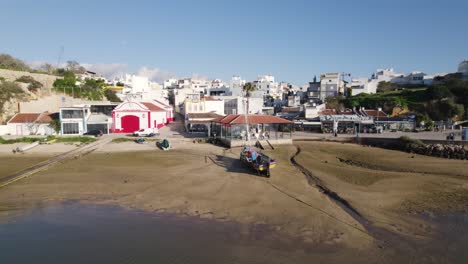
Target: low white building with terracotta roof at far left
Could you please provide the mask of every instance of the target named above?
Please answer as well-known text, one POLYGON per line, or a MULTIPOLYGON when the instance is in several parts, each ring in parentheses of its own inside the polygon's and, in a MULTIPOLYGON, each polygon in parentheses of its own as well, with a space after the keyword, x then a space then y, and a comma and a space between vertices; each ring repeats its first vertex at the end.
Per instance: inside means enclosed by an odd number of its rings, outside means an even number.
POLYGON ((18 113, 7 122, 7 133, 15 136, 53 135, 49 113, 18 113))

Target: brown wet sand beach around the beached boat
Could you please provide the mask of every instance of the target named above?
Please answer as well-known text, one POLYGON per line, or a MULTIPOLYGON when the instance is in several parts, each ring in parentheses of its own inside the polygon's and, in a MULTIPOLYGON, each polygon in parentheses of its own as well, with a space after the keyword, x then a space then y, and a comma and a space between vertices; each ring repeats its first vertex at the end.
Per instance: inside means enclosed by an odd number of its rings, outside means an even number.
POLYGON ((460 212, 466 205, 465 161, 351 144, 298 145, 302 151, 296 161, 356 208, 368 226, 309 184, 290 162, 295 146, 266 151, 279 161, 267 179, 244 169, 236 149, 183 142, 163 152, 150 144, 112 143, 1 189, 0 203, 33 206, 79 200, 235 221, 246 230, 250 225, 267 225, 310 248, 339 249, 335 261, 356 255, 352 262, 359 262, 362 258, 357 256, 365 253, 369 262, 388 263, 392 261, 387 257, 396 251, 383 246, 369 226, 426 241, 435 234, 436 225, 421 218, 421 212, 460 212), (420 200, 434 191, 462 194, 453 208, 446 208, 443 201, 448 198, 427 203, 434 210, 422 206, 420 200))

